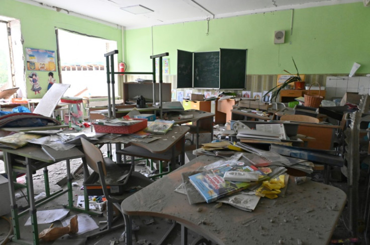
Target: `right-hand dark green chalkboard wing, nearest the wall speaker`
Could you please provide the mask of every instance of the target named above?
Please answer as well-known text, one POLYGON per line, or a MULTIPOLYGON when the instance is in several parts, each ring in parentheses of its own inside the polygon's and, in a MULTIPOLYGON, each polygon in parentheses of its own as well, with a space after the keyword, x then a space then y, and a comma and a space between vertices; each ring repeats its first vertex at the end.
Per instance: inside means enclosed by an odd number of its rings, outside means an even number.
POLYGON ((244 89, 246 49, 220 49, 220 89, 244 89))

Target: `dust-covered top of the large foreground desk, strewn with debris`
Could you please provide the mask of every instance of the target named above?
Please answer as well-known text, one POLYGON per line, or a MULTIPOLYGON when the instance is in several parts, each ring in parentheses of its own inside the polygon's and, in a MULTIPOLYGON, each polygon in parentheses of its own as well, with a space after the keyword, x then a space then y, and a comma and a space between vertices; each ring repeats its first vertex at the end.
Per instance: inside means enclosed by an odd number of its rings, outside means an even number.
POLYGON ((346 202, 346 194, 333 186, 291 179, 285 197, 261 198, 252 212, 216 203, 190 205, 186 195, 174 192, 181 172, 194 171, 219 160, 200 156, 155 181, 122 202, 127 215, 174 219, 219 245, 328 244, 346 202))

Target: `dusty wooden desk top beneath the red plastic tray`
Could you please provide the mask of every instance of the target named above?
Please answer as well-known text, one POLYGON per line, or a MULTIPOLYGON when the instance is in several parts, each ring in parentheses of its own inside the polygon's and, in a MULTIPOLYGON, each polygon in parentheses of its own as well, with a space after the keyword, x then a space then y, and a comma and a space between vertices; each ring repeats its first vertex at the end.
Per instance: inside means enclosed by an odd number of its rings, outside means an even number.
MULTIPOLYGON (((187 126, 172 126, 172 130, 168 131, 165 135, 153 134, 154 137, 160 139, 145 143, 139 141, 133 141, 130 144, 134 146, 142 147, 152 153, 163 153, 168 151, 174 144, 176 144, 183 136, 190 131, 187 126)), ((106 144, 106 143, 122 143, 120 137, 110 139, 109 137, 99 138, 99 142, 95 144, 106 144)))

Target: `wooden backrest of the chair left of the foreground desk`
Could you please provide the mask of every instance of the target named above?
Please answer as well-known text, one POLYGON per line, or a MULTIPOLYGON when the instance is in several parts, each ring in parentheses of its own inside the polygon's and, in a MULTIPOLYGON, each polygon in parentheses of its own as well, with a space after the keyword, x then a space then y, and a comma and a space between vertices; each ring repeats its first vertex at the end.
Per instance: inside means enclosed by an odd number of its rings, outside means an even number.
POLYGON ((105 164, 104 164, 103 154, 100 151, 100 149, 97 146, 91 144, 89 141, 87 141, 86 139, 83 139, 83 138, 81 138, 81 143, 82 143, 82 148, 83 148, 83 152, 85 154, 85 159, 86 159, 87 165, 91 169, 93 169, 95 172, 99 173, 99 168, 98 168, 97 163, 101 162, 102 166, 103 166, 104 176, 107 176, 107 171, 106 171, 105 164))

